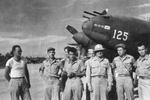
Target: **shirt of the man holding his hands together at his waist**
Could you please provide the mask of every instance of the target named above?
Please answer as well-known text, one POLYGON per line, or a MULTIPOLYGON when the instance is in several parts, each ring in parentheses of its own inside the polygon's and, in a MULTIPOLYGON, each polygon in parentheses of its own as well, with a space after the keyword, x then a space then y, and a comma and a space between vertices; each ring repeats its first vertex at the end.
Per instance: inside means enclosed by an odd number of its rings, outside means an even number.
POLYGON ((83 70, 85 70, 85 65, 82 60, 76 59, 73 63, 71 63, 69 60, 65 61, 64 71, 66 71, 67 73, 80 73, 83 70))

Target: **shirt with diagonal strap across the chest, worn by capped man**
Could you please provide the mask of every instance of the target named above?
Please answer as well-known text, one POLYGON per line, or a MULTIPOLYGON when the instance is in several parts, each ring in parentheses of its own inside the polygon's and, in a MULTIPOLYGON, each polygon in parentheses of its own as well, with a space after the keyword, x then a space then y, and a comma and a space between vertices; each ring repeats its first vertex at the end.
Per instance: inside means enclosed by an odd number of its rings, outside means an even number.
POLYGON ((113 60, 113 66, 118 74, 131 75, 135 59, 133 56, 126 54, 123 58, 117 56, 113 60))

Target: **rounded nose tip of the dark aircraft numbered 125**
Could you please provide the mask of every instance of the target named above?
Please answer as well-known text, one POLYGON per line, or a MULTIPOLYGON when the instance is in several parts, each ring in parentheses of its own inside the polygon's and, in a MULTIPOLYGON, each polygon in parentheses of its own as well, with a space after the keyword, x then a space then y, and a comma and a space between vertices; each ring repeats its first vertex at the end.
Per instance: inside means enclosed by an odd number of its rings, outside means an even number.
POLYGON ((92 21, 87 20, 82 24, 82 30, 87 36, 90 36, 92 29, 93 29, 92 21))

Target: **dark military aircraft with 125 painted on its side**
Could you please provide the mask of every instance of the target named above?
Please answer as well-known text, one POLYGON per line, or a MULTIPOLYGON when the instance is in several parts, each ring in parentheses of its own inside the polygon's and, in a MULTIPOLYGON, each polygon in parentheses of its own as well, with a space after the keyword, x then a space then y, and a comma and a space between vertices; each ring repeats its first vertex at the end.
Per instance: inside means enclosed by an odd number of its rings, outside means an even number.
POLYGON ((92 17, 83 15, 87 18, 82 24, 83 32, 74 31, 73 39, 85 47, 99 43, 110 51, 115 51, 118 43, 125 43, 128 53, 134 57, 138 54, 137 44, 143 42, 150 52, 150 22, 129 16, 109 15, 107 12, 107 9, 102 13, 84 11, 92 17))

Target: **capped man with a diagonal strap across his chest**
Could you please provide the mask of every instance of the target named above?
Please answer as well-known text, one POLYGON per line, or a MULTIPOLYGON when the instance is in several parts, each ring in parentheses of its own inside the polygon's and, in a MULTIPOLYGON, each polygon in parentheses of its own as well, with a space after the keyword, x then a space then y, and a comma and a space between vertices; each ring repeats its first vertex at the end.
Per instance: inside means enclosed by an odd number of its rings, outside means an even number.
POLYGON ((124 100, 124 91, 128 100, 133 100, 133 80, 132 74, 135 59, 126 54, 126 45, 120 43, 116 45, 118 56, 114 58, 112 65, 115 72, 116 88, 118 100, 124 100))

